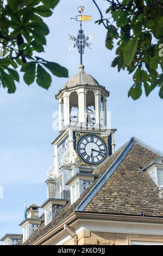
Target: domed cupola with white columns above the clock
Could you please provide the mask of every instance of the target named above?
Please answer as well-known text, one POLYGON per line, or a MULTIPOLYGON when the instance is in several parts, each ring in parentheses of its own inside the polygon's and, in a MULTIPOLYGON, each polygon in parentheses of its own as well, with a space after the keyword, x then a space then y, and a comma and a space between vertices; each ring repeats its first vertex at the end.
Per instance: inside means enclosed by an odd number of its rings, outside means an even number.
POLYGON ((106 128, 108 90, 86 74, 84 65, 55 96, 59 104, 59 132, 66 127, 106 128))

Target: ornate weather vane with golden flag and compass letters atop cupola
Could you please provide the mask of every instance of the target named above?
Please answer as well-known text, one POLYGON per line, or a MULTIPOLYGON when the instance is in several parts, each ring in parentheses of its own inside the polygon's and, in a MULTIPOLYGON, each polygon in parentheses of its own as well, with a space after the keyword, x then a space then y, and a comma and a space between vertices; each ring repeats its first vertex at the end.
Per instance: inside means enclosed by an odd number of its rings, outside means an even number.
POLYGON ((79 29, 78 35, 77 36, 70 35, 70 34, 68 35, 70 40, 74 41, 74 44, 70 46, 70 50, 73 50, 76 47, 78 48, 78 52, 80 54, 80 64, 83 64, 82 58, 83 58, 85 47, 89 47, 91 49, 92 44, 89 42, 89 40, 92 40, 93 36, 92 35, 86 36, 84 34, 84 30, 82 29, 82 21, 90 21, 92 20, 92 16, 82 15, 84 11, 84 6, 79 6, 78 11, 80 15, 77 15, 75 18, 71 18, 80 22, 80 29, 79 29))

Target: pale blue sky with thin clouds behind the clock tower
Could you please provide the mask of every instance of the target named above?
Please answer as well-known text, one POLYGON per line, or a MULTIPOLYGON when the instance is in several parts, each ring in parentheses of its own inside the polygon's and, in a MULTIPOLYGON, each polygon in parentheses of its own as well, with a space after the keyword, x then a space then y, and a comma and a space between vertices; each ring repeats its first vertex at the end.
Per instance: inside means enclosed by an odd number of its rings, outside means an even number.
MULTIPOLYGON (((98 2, 102 11, 106 10, 106 1, 98 2)), ((78 72, 79 54, 76 49, 69 51, 72 43, 68 33, 78 33, 79 23, 70 18, 78 15, 79 5, 85 6, 84 14, 93 16, 92 21, 84 23, 85 33, 93 35, 92 50, 86 49, 83 57, 85 72, 110 91, 107 107, 111 111, 111 126, 117 129, 116 149, 135 136, 163 151, 163 101, 158 90, 148 97, 143 93, 137 101, 128 98, 132 77, 127 71, 118 73, 117 68, 111 68, 115 48, 105 48, 106 30, 95 24, 100 17, 91 0, 60 0, 52 17, 45 19, 50 31, 45 53, 36 56, 65 66, 69 77, 78 72)), ((53 165, 51 143, 58 135, 52 128, 52 115, 58 110, 55 94, 67 82, 67 78, 52 79, 48 90, 36 83, 28 87, 22 78, 15 94, 0 89, 0 237, 5 233, 22 233, 18 224, 24 218, 24 200, 29 206, 41 205, 47 199, 46 172, 53 165)))

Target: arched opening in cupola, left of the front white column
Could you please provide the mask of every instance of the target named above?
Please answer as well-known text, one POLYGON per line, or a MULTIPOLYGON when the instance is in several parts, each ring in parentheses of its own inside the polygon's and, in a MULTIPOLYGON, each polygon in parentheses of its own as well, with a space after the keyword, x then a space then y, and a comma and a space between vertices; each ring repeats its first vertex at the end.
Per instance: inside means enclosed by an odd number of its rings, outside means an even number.
POLYGON ((78 94, 72 92, 70 94, 70 125, 77 126, 79 124, 79 107, 78 107, 78 94))

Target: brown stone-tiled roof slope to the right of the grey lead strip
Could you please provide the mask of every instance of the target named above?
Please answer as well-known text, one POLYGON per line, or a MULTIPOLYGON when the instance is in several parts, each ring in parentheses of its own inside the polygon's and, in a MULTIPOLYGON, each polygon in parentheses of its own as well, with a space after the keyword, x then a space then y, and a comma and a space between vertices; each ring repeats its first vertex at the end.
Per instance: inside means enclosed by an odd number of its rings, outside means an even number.
POLYGON ((84 212, 140 216, 144 211, 145 216, 163 217, 160 190, 148 173, 140 170, 157 157, 158 154, 135 143, 84 212))

